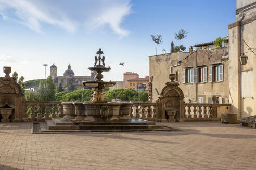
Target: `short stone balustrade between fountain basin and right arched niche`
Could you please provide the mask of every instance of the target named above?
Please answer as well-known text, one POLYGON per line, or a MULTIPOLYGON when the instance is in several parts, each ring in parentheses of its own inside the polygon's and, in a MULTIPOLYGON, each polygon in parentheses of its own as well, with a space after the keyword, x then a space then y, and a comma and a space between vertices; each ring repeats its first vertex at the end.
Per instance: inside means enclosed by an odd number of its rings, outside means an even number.
POLYGON ((157 121, 159 115, 158 108, 159 103, 133 102, 130 116, 131 118, 140 118, 149 121, 157 121))

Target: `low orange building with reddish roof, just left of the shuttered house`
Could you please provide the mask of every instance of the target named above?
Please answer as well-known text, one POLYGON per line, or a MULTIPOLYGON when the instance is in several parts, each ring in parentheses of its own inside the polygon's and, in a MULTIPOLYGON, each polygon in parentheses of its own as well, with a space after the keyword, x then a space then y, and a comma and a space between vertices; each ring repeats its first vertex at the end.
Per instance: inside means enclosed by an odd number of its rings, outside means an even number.
POLYGON ((146 76, 144 78, 134 78, 127 80, 128 82, 128 89, 133 89, 136 90, 137 92, 140 91, 146 91, 148 92, 149 90, 149 76, 146 76))

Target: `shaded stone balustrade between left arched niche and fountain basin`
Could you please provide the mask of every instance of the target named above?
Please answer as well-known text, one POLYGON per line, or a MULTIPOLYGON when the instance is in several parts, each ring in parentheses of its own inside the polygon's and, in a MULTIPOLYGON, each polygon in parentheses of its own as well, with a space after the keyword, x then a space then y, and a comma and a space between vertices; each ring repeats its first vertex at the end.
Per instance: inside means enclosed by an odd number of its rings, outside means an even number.
POLYGON ((63 117, 61 101, 26 101, 25 121, 44 121, 51 117, 63 117))

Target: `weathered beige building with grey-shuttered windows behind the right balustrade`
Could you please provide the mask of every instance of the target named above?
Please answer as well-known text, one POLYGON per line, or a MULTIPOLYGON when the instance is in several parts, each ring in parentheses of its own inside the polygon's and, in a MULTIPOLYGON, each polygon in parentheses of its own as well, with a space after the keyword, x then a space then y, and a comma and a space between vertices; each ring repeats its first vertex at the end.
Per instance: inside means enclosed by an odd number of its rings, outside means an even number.
POLYGON ((184 93, 186 103, 228 103, 228 50, 227 47, 197 50, 191 53, 171 53, 149 58, 150 76, 153 76, 152 100, 159 97, 169 74, 176 74, 176 81, 184 93))

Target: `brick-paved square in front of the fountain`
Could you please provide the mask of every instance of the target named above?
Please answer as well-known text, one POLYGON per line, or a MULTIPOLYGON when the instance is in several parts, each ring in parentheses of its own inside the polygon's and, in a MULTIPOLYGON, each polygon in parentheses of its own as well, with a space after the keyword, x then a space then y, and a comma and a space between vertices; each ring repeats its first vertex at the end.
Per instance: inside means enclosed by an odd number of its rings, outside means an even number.
POLYGON ((180 131, 31 134, 31 123, 0 123, 0 169, 256 169, 255 129, 167 125, 180 131))

